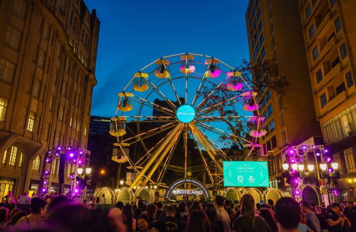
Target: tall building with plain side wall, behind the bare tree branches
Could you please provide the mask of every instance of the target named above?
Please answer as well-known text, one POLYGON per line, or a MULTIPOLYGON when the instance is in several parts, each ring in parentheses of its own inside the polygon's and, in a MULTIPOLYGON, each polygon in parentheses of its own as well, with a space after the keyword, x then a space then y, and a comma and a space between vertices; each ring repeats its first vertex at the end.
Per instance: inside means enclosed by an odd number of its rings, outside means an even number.
MULTIPOLYGON (((264 154, 273 152, 277 172, 281 173, 284 150, 321 135, 312 102, 298 0, 250 0, 245 18, 251 65, 273 60, 277 75, 286 76, 290 82, 283 89, 285 95, 268 87, 259 95, 267 130, 260 143, 264 154)), ((283 181, 278 184, 280 188, 284 185, 283 181)))

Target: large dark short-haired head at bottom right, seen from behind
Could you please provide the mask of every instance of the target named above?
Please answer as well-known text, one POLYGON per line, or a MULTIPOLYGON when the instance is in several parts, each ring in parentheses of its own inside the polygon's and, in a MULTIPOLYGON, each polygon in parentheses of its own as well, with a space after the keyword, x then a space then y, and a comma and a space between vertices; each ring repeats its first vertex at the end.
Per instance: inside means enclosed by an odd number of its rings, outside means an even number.
POLYGON ((274 208, 274 219, 281 228, 296 229, 300 220, 300 207, 290 197, 280 198, 274 208))

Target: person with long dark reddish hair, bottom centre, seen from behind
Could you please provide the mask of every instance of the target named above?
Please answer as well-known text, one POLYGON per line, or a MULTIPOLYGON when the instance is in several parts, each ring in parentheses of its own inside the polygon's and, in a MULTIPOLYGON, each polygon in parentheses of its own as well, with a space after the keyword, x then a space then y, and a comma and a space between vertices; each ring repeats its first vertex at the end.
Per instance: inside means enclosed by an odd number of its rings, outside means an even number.
MULTIPOLYGON (((180 230, 182 231, 182 230, 180 230)), ((188 216, 187 232, 210 232, 209 220, 201 210, 194 210, 188 216)))

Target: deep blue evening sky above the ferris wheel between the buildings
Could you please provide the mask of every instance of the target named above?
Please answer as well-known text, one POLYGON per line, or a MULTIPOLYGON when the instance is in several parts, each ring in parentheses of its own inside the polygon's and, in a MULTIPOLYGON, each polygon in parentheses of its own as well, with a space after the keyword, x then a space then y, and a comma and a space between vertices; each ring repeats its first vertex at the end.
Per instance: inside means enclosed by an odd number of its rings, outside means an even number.
POLYGON ((100 20, 91 115, 115 116, 118 92, 158 58, 196 53, 232 67, 248 54, 247 0, 85 0, 100 20))

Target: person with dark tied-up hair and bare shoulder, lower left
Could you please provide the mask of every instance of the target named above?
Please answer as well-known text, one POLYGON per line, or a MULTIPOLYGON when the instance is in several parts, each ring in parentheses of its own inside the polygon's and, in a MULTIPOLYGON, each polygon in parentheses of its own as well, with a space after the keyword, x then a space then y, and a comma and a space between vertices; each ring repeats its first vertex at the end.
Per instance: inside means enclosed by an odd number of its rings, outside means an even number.
POLYGON ((47 203, 40 198, 33 198, 30 203, 31 214, 21 217, 15 224, 18 229, 32 229, 46 214, 47 203))

